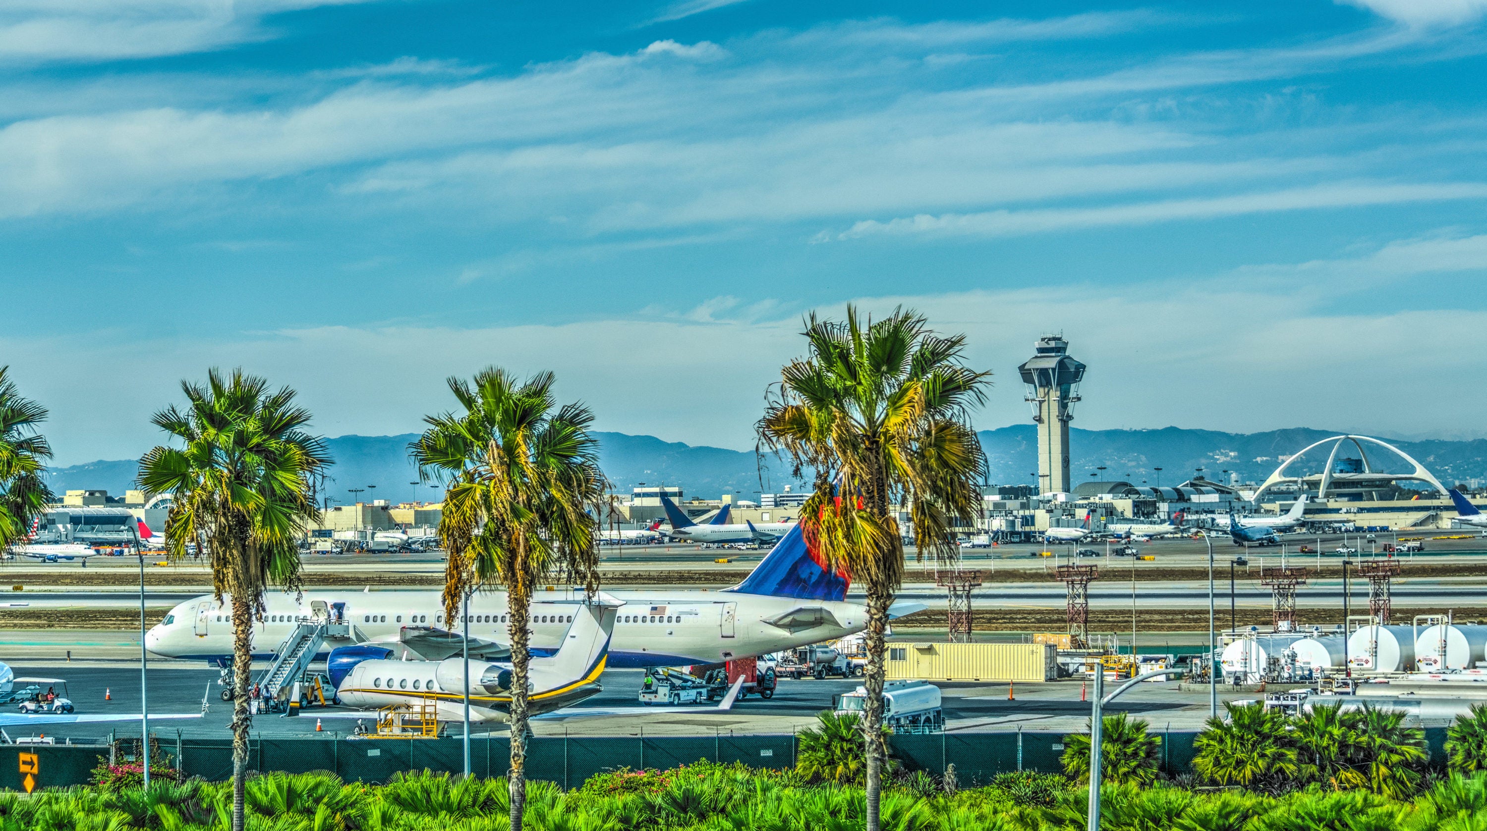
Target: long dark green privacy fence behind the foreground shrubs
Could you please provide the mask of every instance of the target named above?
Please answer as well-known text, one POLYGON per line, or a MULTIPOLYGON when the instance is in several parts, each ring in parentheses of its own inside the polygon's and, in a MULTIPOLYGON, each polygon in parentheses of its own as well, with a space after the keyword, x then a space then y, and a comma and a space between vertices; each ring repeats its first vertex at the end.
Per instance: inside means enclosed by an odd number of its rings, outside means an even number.
MULTIPOLYGON (((1182 775, 1193 764, 1191 731, 1157 731, 1161 737, 1161 767, 1182 775)), ((1444 727, 1426 728, 1426 745, 1433 764, 1445 760, 1444 727)), ((159 734, 159 748, 187 776, 222 780, 232 776, 230 739, 178 739, 159 734)), ((138 739, 122 742, 132 752, 138 739)), ((700 760, 752 767, 793 767, 799 746, 796 736, 541 736, 528 743, 528 776, 577 788, 595 773, 619 767, 668 769, 700 760)), ((941 775, 955 764, 962 783, 987 782, 1011 770, 1059 772, 1063 752, 1062 733, 940 733, 894 736, 892 752, 910 770, 941 775)), ((107 746, 0 746, 0 788, 21 789, 22 770, 34 769, 40 786, 82 785, 107 746), (34 754, 34 761, 21 754, 34 754)), ((506 737, 471 742, 471 770, 476 776, 503 776, 510 746, 506 737)), ((459 739, 345 739, 338 736, 262 739, 248 743, 251 770, 305 773, 329 770, 346 780, 385 782, 400 770, 464 770, 459 739)))

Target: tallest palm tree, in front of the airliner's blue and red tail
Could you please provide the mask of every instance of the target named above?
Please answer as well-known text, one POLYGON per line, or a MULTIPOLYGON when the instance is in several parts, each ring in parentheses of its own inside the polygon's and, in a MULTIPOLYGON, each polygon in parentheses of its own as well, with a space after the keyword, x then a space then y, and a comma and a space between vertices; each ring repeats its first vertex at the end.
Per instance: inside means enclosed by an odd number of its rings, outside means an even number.
POLYGON ((990 373, 962 363, 964 336, 940 337, 912 311, 865 324, 852 306, 845 323, 812 314, 804 336, 809 354, 784 367, 755 427, 761 446, 790 455, 797 477, 815 476, 800 511, 807 546, 867 589, 862 730, 867 830, 877 831, 883 629, 904 574, 895 510, 909 511, 920 559, 959 556, 952 526, 980 504, 986 464, 968 409, 984 401, 990 373))

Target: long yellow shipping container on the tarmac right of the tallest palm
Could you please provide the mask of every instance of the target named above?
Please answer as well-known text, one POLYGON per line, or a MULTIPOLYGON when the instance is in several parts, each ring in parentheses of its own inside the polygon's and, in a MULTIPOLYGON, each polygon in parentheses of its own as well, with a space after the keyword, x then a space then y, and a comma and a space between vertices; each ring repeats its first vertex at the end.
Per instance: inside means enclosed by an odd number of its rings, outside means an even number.
POLYGON ((889 641, 885 669, 889 681, 1053 681, 1059 676, 1059 648, 889 641))

